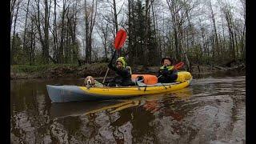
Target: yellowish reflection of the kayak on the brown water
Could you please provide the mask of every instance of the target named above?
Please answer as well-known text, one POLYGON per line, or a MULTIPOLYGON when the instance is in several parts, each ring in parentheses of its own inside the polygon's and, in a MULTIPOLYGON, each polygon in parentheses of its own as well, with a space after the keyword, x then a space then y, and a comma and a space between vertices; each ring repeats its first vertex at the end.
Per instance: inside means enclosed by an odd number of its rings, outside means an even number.
POLYGON ((53 118, 63 118, 67 116, 79 116, 82 114, 95 114, 104 110, 112 114, 134 106, 142 106, 146 111, 154 113, 159 110, 160 105, 162 105, 163 102, 169 102, 167 101, 167 98, 170 98, 172 101, 174 101, 174 99, 177 100, 178 98, 185 100, 191 95, 192 90, 190 88, 185 88, 170 94, 152 94, 147 97, 130 98, 124 100, 52 103, 50 106, 50 115, 53 118))

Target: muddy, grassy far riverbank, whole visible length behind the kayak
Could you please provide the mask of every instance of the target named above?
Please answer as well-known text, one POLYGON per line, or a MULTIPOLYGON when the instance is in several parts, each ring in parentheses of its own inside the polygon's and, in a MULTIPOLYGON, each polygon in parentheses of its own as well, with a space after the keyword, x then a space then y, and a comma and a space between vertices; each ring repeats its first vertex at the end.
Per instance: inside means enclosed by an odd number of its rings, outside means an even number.
MULTIPOLYGON (((159 66, 132 66, 133 74, 157 74, 159 66)), ((211 74, 218 71, 245 71, 245 66, 221 67, 221 66, 192 66, 192 74, 211 74)), ((10 79, 31 79, 31 78, 85 78, 87 75, 93 77, 104 77, 107 70, 107 63, 93 63, 83 66, 62 64, 43 66, 10 66, 10 79)), ((109 70, 107 76, 113 76, 114 72, 109 70)))

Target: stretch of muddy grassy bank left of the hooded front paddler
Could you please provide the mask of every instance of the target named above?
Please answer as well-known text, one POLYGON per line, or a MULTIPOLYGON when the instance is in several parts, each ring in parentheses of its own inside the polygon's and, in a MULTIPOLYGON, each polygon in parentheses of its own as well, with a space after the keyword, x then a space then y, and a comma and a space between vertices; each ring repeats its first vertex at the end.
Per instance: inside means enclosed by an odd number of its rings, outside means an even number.
MULTIPOLYGON (((30 66, 11 66, 10 79, 30 79, 30 78, 83 78, 87 75, 102 76, 106 73, 107 64, 94 63, 84 66, 45 66, 35 69, 30 66), (35 69, 35 70, 34 70, 35 69)), ((110 71, 109 74, 112 72, 110 71)))

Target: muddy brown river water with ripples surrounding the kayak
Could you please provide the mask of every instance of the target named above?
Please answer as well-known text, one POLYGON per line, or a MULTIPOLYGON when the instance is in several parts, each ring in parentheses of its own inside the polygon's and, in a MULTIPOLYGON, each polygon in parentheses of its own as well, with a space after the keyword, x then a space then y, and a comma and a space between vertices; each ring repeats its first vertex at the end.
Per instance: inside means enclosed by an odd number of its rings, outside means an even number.
POLYGON ((246 143, 246 77, 194 76, 170 94, 102 102, 51 103, 46 84, 10 82, 11 143, 246 143))

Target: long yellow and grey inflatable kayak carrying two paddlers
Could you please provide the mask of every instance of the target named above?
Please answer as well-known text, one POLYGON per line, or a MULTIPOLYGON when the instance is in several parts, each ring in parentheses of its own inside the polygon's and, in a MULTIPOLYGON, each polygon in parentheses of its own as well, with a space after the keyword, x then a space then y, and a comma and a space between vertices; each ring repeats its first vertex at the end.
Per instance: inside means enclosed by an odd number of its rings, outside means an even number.
MULTIPOLYGON (((150 74, 137 74, 136 78, 145 76, 145 82, 148 82, 150 79, 149 75, 150 74)), ((132 78, 134 78, 134 76, 132 76, 132 78)), ((176 82, 172 83, 147 84, 143 82, 138 82, 138 86, 125 87, 46 85, 46 88, 52 102, 98 101, 106 99, 138 97, 149 94, 161 94, 173 90, 180 90, 185 88, 186 86, 189 86, 191 81, 192 76, 189 72, 179 71, 176 82)))

